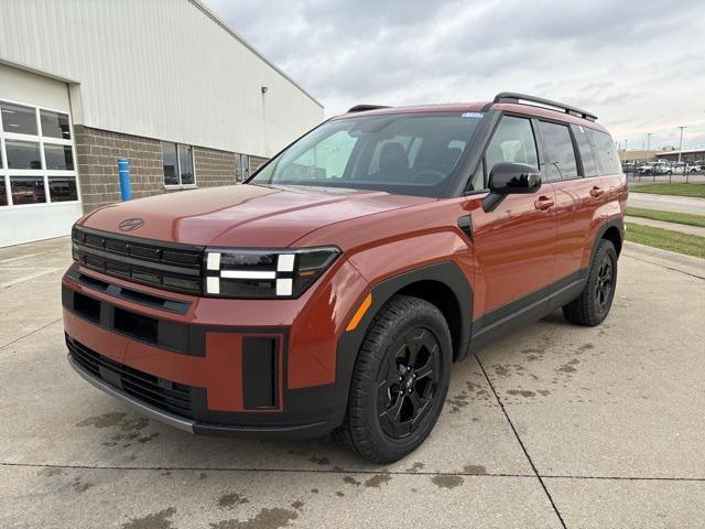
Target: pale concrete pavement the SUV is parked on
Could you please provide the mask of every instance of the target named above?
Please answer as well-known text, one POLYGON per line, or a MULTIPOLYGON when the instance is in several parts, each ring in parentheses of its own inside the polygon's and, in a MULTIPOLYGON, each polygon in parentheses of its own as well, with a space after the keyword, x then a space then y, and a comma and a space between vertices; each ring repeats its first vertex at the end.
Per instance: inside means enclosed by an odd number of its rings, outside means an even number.
POLYGON ((0 250, 3 529, 705 527, 705 261, 627 245, 601 326, 554 314, 454 366, 431 439, 375 466, 95 390, 65 359, 68 259, 67 239, 0 250))

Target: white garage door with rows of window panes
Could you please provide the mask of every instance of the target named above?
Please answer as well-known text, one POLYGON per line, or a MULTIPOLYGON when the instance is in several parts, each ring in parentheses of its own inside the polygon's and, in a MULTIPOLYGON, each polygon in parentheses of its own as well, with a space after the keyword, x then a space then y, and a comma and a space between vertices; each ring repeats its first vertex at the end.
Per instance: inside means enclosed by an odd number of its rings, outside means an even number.
MULTIPOLYGON (((26 74, 12 80, 18 78, 15 91, 37 99, 57 83, 26 74), (48 86, 23 90, 26 83, 48 86)), ((17 97, 21 94, 11 94, 12 86, 6 83, 0 90, 0 246, 67 235, 82 214, 66 86, 59 93, 66 98, 63 108, 17 97)))

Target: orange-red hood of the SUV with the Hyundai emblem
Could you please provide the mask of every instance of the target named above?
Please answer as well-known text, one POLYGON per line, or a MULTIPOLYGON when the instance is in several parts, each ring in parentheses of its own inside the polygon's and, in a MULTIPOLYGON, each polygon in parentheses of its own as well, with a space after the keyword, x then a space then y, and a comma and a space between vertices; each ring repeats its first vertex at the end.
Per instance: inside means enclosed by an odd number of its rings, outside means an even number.
MULTIPOLYGON (((112 204, 78 222, 126 236, 203 246, 288 247, 323 226, 433 198, 310 186, 231 185, 112 204), (131 230, 121 230, 120 223, 131 230)), ((334 240, 330 241, 335 244, 334 240)))

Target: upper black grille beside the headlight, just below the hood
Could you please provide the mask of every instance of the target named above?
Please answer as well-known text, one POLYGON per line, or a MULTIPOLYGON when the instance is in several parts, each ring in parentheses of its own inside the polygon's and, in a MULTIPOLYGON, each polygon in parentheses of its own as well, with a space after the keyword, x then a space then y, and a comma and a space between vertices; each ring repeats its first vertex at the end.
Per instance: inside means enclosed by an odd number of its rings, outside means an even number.
POLYGON ((135 283, 200 294, 203 247, 159 242, 75 226, 74 260, 135 283))

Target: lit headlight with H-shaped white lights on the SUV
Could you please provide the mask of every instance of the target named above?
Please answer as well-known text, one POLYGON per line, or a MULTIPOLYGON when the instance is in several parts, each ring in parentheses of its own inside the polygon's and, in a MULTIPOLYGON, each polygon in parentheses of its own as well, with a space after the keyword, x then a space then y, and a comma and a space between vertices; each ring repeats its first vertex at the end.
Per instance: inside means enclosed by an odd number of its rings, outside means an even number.
POLYGON ((299 298, 339 255, 336 247, 207 248, 204 292, 219 298, 299 298))

